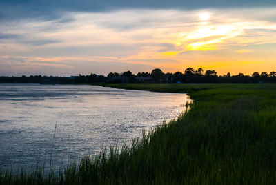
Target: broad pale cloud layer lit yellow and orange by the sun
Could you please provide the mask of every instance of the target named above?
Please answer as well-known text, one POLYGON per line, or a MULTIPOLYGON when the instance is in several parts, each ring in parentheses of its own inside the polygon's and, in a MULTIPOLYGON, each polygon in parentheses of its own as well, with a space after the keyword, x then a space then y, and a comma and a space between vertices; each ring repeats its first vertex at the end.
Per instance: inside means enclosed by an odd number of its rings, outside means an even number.
MULTIPOLYGON (((213 64, 226 68, 233 61, 272 61, 276 20, 266 17, 276 16, 276 9, 266 8, 265 15, 262 12, 263 8, 133 9, 67 12, 63 17, 49 20, 6 20, 2 21, 0 30, 0 55, 10 56, 5 65, 9 62, 21 68, 24 62, 31 64, 32 59, 33 64, 36 61, 37 71, 55 69, 61 74, 89 73, 95 69, 103 74, 107 70, 119 70, 116 64, 122 69, 128 66, 128 70, 132 66, 132 71, 139 66, 141 70, 164 68, 165 72, 173 72, 188 66, 213 64), (264 45, 262 50, 254 48, 264 45), (237 51, 246 50, 250 52, 237 55, 237 51), (20 63, 12 57, 28 57, 28 60, 20 63), (60 65, 55 68, 57 64, 72 68, 67 71, 60 65)), ((3 59, 1 62, 4 64, 3 59)))

